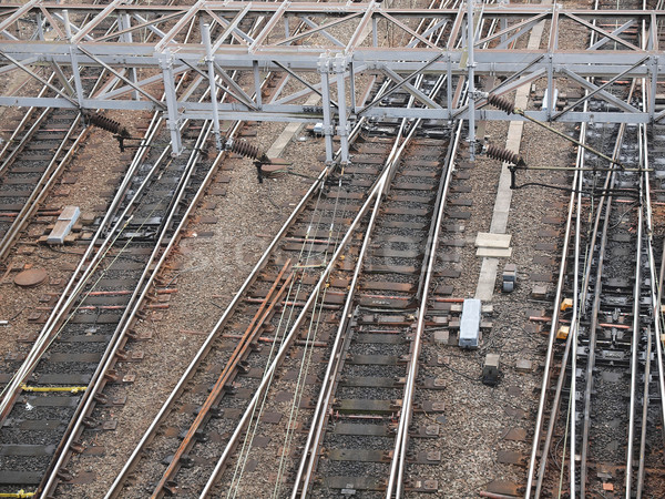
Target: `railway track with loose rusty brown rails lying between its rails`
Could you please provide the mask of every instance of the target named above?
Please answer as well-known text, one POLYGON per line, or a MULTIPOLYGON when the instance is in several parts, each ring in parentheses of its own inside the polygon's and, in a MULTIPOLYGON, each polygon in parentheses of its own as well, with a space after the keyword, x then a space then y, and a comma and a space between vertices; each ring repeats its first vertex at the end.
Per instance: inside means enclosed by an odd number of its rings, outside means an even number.
MULTIPOLYGON (((317 294, 313 294, 313 289, 327 283, 326 292, 321 292, 318 297, 321 303, 315 305, 318 310, 315 312, 315 316, 340 309, 348 281, 348 277, 344 278, 344 274, 348 276, 349 271, 342 268, 341 274, 334 276, 329 274, 335 268, 334 263, 340 256, 342 248, 351 241, 352 233, 346 230, 342 233, 338 231, 339 227, 344 227, 344 224, 350 222, 348 218, 351 216, 355 217, 351 227, 356 227, 360 220, 358 214, 364 215, 371 207, 377 189, 374 189, 372 197, 368 197, 367 185, 377 182, 379 175, 377 165, 382 164, 389 154, 389 145, 385 139, 374 139, 362 144, 362 150, 366 152, 356 157, 351 169, 354 173, 345 174, 352 175, 348 184, 346 181, 335 180, 328 190, 321 176, 320 182, 313 186, 309 194, 314 200, 310 200, 309 204, 305 203, 305 200, 301 202, 293 221, 289 221, 283 234, 279 234, 285 237, 276 238, 272 245, 284 244, 285 253, 280 256, 273 255, 269 265, 267 262, 270 253, 264 255, 257 266, 257 271, 263 269, 263 275, 259 277, 256 272, 247 279, 244 286, 247 289, 246 292, 244 289, 246 294, 238 294, 238 299, 234 301, 232 307, 221 318, 191 369, 183 376, 172 397, 144 436, 132 461, 121 473, 120 480, 111 491, 112 495, 120 492, 119 487, 123 485, 126 475, 143 472, 134 470, 137 465, 134 460, 137 461, 147 441, 152 449, 151 454, 156 455, 155 458, 147 460, 151 468, 154 467, 155 461, 162 461, 168 454, 175 452, 176 458, 168 459, 166 469, 162 471, 162 478, 153 475, 151 480, 158 482, 153 493, 160 496, 171 490, 174 477, 184 472, 181 469, 182 465, 191 466, 187 460, 191 447, 205 442, 192 438, 185 438, 181 442, 178 438, 173 438, 177 435, 155 438, 161 432, 160 428, 171 427, 175 421, 182 421, 178 426, 185 428, 185 432, 194 435, 201 434, 202 426, 207 424, 212 428, 206 428, 206 432, 222 435, 224 430, 217 428, 217 425, 235 426, 233 419, 241 416, 238 410, 247 405, 246 397, 255 394, 257 386, 267 379, 263 376, 256 377, 258 373, 263 373, 265 366, 270 365, 274 356, 285 357, 289 340, 295 342, 296 345, 299 343, 295 330, 297 325, 305 322, 307 308, 315 304, 317 294), (323 267, 325 272, 321 275, 323 267), (245 301, 245 305, 238 306, 241 297, 245 301), (266 346, 259 348, 258 345, 262 343, 266 346), (278 355, 275 350, 277 347, 280 348, 278 355), (221 356, 224 360, 217 360, 216 356, 221 356), (205 358, 215 360, 204 360, 205 358), (241 373, 247 376, 236 378, 241 373), (236 388, 229 391, 234 380, 236 388), (203 387, 211 385, 213 389, 207 394, 203 387), (197 404, 203 405, 205 410, 197 410, 196 414, 183 414, 177 410, 178 406, 188 408, 197 404), (219 420, 218 416, 222 414, 232 419, 219 420), (171 422, 172 420, 174 422, 171 422)), ((349 259, 352 254, 354 249, 345 251, 349 259)), ((320 345, 320 342, 315 344, 320 345)), ((274 364, 276 367, 276 363, 274 364)), ((196 461, 196 466, 205 468, 211 468, 211 465, 214 462, 196 461)), ((141 480, 141 483, 145 481, 141 480)), ((198 487, 201 486, 200 483, 198 487)), ((130 487, 129 493, 133 493, 132 489, 130 487)), ((145 493, 145 490, 137 490, 135 493, 145 493)))

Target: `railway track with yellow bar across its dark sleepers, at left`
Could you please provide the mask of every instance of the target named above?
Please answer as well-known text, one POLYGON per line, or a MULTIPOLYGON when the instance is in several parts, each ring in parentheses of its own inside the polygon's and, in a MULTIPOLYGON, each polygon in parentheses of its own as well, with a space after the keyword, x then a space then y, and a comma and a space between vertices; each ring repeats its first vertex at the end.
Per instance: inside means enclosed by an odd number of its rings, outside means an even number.
MULTIPOLYGON (((204 129, 200 140, 207 132, 204 129)), ((195 169, 197 156, 170 161, 162 154, 154 167, 135 169, 135 176, 127 177, 126 191, 121 193, 133 191, 135 195, 108 214, 69 293, 54 304, 27 359, 7 366, 17 375, 3 391, 3 483, 39 485, 64 436, 61 424, 51 424, 51 428, 48 421, 69 421, 85 399, 86 387, 100 376, 114 380, 99 366, 111 353, 117 359, 127 355, 122 349, 126 338, 117 337, 117 332, 132 318, 135 302, 151 282, 151 265, 163 256, 182 214, 203 184, 205 174, 195 169), (132 215, 127 215, 130 211, 132 215), (12 407, 12 400, 19 404, 12 407), (34 415, 39 420, 34 421, 34 415), (30 434, 24 430, 30 425, 39 445, 25 441, 30 434), (24 469, 31 471, 21 471, 24 469)), ((106 401, 99 397, 96 403, 106 401)), ((92 419, 84 424, 96 426, 92 419)), ((66 472, 61 470, 60 476, 66 478, 66 472)))

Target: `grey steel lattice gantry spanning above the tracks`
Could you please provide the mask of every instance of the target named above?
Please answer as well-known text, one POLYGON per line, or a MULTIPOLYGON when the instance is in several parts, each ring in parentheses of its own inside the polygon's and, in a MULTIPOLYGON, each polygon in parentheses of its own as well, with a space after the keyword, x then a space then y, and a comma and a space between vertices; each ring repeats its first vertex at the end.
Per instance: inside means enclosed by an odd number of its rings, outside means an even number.
MULTIPOLYGON (((665 111, 656 108, 658 78, 665 70, 658 47, 665 12, 570 10, 556 4, 479 4, 471 19, 467 6, 393 9, 374 1, 201 0, 192 7, 134 6, 124 0, 108 6, 3 3, 0 74, 22 71, 47 83, 53 73, 55 80, 48 83, 48 92, 39 93, 41 85, 23 85, 14 95, 1 95, 0 105, 162 110, 176 153, 184 119, 214 120, 217 140, 222 120, 323 122, 328 161, 334 134, 341 139, 346 161, 350 124, 360 118, 469 119, 469 108, 452 88, 453 81, 461 86, 469 71, 468 20, 480 28, 472 45, 475 75, 499 77, 492 93, 507 94, 536 81, 546 85, 549 105, 529 111, 529 116, 598 123, 654 123, 665 118, 665 111), (426 29, 417 32, 421 20, 427 21, 426 29), (493 23, 493 34, 487 34, 481 27, 489 24, 481 20, 493 23), (538 50, 519 49, 542 22, 550 28, 546 43, 538 50), (562 47, 560 32, 571 28, 581 39, 593 31, 597 41, 587 49, 562 47), (635 30, 645 33, 638 45, 631 41, 636 39, 635 30), (390 34, 388 43, 380 43, 383 33, 390 34), (436 39, 440 41, 430 41, 436 39), (91 67, 110 74, 106 84, 92 93, 81 83, 91 67), (186 71, 194 77, 177 89, 176 79, 186 71), (269 71, 287 78, 276 94, 264 100, 260 82, 269 71), (436 102, 412 84, 419 74, 448 75, 444 102, 436 102), (368 89, 377 78, 409 92, 417 105, 407 109, 390 105, 385 95, 372 98, 368 89), (613 84, 633 78, 644 79, 646 102, 640 109, 612 93, 613 84), (584 112, 579 101, 556 111, 551 102, 554 90, 571 85, 605 100, 606 110, 584 112), (208 95, 215 99, 202 99, 202 89, 213 90, 208 95), (314 105, 311 100, 305 102, 313 94, 319 96, 314 105)), ((483 108, 485 103, 482 94, 474 93, 474 119, 521 119, 483 108)))

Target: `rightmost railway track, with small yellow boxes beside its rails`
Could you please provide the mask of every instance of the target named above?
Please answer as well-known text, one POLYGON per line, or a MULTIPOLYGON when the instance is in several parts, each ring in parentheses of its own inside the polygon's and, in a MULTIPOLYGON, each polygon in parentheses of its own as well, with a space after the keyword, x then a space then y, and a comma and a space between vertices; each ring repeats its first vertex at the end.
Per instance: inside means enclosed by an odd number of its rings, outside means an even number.
MULTIPOLYGON (((626 34, 638 43, 644 35, 638 30, 626 34)), ((637 81, 615 91, 646 98, 637 81)), ((661 134, 659 125, 652 126, 649 138, 643 126, 582 128, 587 143, 613 149, 615 160, 642 171, 592 172, 597 157, 577 156, 577 166, 586 171, 577 171, 572 183, 560 274, 567 274, 572 288, 561 278, 549 350, 557 360, 543 384, 528 497, 545 490, 648 497, 663 490, 655 458, 662 448, 654 444, 661 439, 657 421, 665 406, 649 192, 649 176, 658 177, 659 165, 648 152, 661 134), (545 397, 549 376, 557 381, 545 397)))

